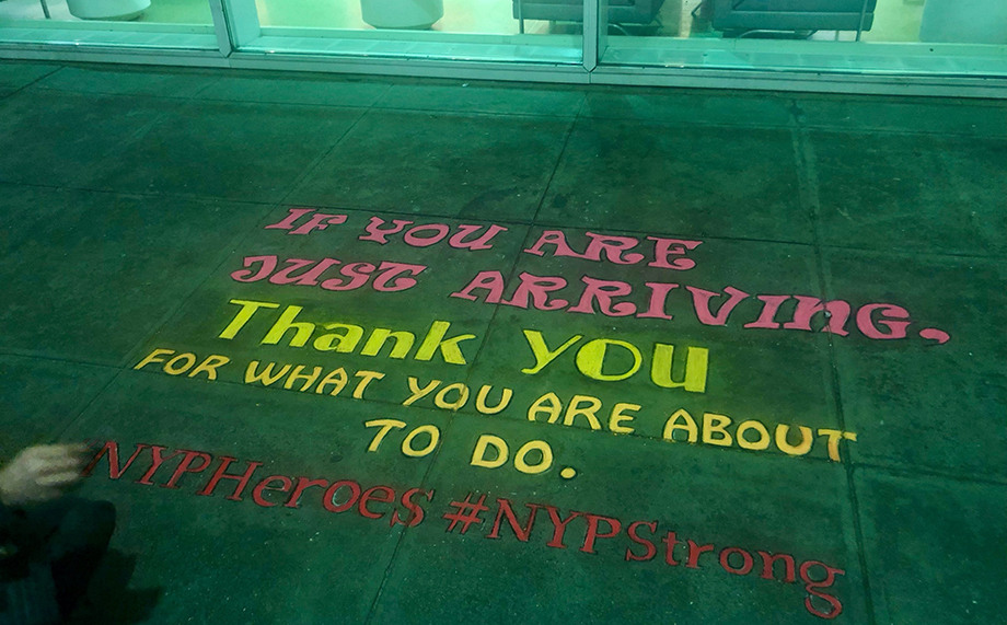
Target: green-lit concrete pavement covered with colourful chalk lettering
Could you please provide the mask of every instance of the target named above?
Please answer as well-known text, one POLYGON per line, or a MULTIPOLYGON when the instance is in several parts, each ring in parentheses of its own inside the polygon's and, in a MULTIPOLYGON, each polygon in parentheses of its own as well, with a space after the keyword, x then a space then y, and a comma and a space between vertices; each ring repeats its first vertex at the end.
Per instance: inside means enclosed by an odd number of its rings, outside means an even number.
POLYGON ((1003 102, 0 62, 0 456, 106 442, 99 623, 997 623, 1005 170, 1003 102))

